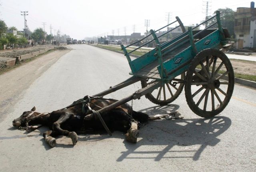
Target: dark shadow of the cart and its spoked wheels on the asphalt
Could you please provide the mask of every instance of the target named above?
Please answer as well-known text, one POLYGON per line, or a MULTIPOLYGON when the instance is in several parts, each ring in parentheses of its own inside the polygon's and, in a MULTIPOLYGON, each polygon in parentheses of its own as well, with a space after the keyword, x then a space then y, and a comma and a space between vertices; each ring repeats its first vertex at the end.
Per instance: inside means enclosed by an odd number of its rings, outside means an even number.
MULTIPOLYGON (((166 114, 175 111, 177 106, 154 106, 142 109, 154 114, 166 114)), ((215 116, 212 118, 176 119, 150 121, 140 129, 140 139, 136 144, 124 141, 127 151, 121 152, 116 161, 124 159, 153 158, 159 161, 162 158, 192 158, 198 160, 207 146, 215 146, 220 142, 217 137, 224 133, 231 125, 228 117, 215 116), (198 150, 195 147, 200 145, 198 150), (174 147, 175 146, 175 147, 174 147), (186 147, 177 151, 176 146, 186 147), (150 151, 144 151, 150 147, 150 151), (162 150, 160 148, 163 147, 162 150), (143 150, 143 151, 140 151, 143 150), (160 150, 160 151, 159 151, 160 150), (181 156, 189 154, 190 156, 181 156), (192 156, 191 156, 192 155, 192 156)))

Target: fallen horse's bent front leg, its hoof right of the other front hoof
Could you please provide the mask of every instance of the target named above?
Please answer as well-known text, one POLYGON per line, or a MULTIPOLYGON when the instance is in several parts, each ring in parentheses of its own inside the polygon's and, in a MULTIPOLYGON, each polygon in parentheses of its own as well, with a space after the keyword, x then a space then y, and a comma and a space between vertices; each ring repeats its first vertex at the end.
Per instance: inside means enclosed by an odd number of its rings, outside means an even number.
POLYGON ((68 131, 68 130, 63 130, 62 128, 60 128, 60 125, 61 125, 62 123, 64 123, 66 120, 68 120, 70 117, 72 117, 72 115, 73 115, 72 113, 67 113, 67 112, 65 112, 64 114, 62 114, 62 115, 60 116, 60 118, 58 119, 58 121, 56 121, 56 122, 53 123, 52 129, 53 129, 54 131, 59 132, 60 134, 62 134, 62 135, 64 135, 64 136, 70 137, 70 138, 72 139, 73 145, 76 145, 77 139, 78 139, 76 132, 74 132, 74 131, 73 131, 73 132, 70 132, 70 131, 68 131))

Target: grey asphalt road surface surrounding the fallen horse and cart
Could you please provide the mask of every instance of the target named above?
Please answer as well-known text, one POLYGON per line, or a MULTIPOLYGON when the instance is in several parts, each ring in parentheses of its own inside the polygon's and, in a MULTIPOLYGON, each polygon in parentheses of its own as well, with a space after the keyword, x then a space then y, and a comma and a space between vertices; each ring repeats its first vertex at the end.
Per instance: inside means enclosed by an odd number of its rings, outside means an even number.
MULTIPOLYGON (((60 137, 50 148, 42 127, 26 134, 12 120, 36 106, 38 112, 63 108, 130 77, 124 55, 90 45, 72 45, 28 89, 18 95, 0 123, 0 172, 34 171, 255 171, 256 90, 235 85, 230 103, 216 117, 204 119, 186 104, 184 91, 169 106, 146 98, 135 100, 135 110, 150 115, 179 111, 184 119, 150 121, 140 129, 138 143, 124 133, 79 135, 77 145, 60 137)), ((106 96, 121 99, 140 83, 106 96)), ((130 102, 129 102, 130 103, 130 102)))

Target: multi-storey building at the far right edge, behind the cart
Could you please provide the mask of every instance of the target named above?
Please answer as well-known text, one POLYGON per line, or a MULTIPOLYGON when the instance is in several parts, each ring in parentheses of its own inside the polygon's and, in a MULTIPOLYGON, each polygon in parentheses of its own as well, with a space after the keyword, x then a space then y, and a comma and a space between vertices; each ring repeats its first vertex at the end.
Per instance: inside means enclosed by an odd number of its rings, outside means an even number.
POLYGON ((251 2, 250 8, 239 7, 234 13, 236 35, 236 47, 256 48, 256 8, 254 2, 251 2))

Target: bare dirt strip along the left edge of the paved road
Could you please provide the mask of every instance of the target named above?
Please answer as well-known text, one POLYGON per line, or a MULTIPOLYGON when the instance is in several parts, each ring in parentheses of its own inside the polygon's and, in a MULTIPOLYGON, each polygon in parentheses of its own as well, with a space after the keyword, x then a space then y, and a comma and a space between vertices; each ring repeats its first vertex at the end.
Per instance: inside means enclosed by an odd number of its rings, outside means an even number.
POLYGON ((6 110, 11 109, 17 102, 18 95, 69 51, 56 50, 46 55, 41 55, 29 63, 0 75, 0 121, 7 115, 8 112, 6 110))

